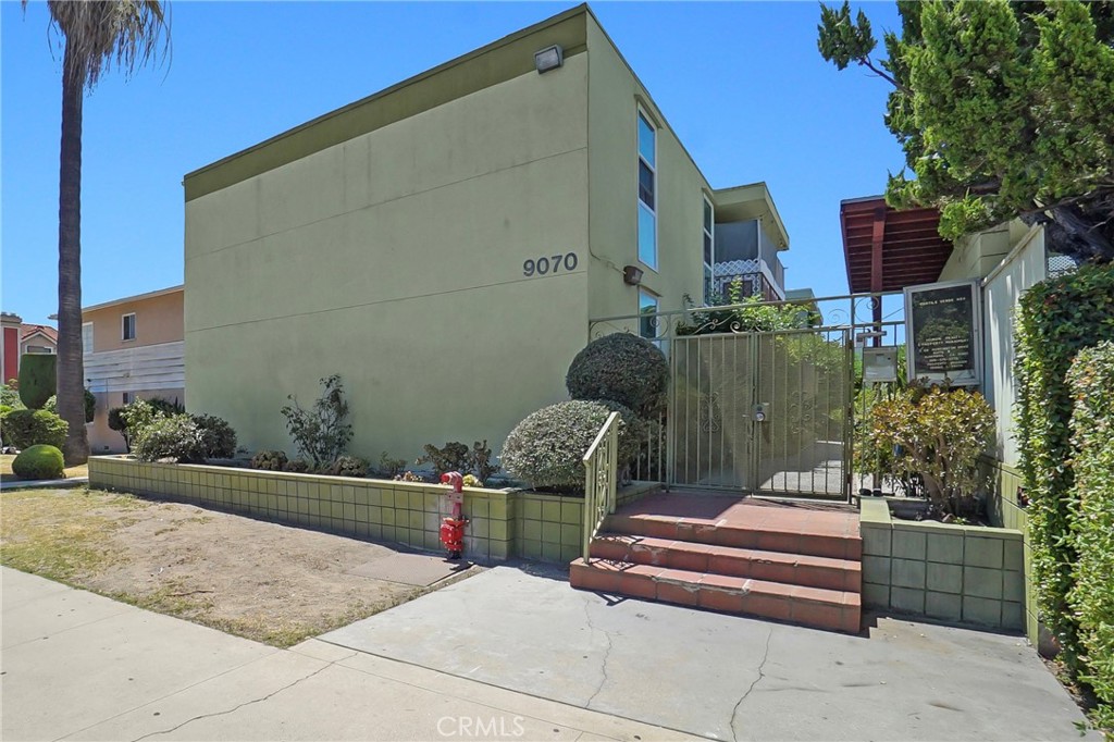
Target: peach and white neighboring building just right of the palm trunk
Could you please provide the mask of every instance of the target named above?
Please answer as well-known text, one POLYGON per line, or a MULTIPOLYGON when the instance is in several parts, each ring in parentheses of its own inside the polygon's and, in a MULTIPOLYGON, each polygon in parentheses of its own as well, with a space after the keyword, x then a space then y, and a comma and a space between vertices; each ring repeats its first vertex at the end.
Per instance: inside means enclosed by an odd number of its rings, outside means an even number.
POLYGON ((125 449, 108 427, 114 407, 155 397, 185 403, 183 294, 173 286, 81 310, 86 387, 97 398, 92 453, 125 449))

